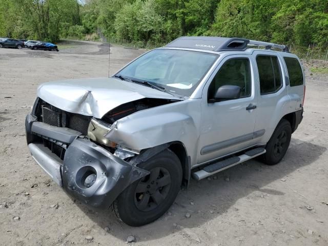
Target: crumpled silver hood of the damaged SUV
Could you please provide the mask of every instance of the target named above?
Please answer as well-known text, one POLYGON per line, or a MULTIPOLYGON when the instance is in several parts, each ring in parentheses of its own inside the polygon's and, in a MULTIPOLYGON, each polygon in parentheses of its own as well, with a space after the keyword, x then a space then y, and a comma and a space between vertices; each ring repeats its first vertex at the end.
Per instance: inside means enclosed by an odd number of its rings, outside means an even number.
POLYGON ((37 96, 61 110, 103 117, 108 111, 142 98, 180 99, 159 90, 116 78, 85 78, 47 82, 37 96))

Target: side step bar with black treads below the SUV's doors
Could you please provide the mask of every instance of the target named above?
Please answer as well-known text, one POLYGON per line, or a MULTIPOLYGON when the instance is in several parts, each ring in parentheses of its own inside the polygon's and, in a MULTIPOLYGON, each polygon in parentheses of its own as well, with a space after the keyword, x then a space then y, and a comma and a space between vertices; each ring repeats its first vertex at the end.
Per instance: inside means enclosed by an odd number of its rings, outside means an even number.
POLYGON ((242 155, 239 156, 233 156, 228 159, 220 160, 218 162, 214 162, 206 167, 204 167, 202 170, 199 170, 197 172, 192 173, 192 177, 196 180, 200 180, 203 178, 206 178, 208 176, 211 176, 215 173, 221 172, 223 170, 226 170, 228 168, 231 168, 233 166, 238 165, 241 162, 253 159, 256 156, 264 154, 265 149, 264 148, 255 148, 249 151, 246 151, 242 155))

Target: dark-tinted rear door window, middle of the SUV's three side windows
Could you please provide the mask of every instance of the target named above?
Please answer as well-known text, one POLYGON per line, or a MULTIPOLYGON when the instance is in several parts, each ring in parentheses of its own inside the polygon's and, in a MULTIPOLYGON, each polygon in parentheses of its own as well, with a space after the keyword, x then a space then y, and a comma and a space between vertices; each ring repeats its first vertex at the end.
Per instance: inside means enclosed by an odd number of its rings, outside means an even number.
POLYGON ((275 93, 282 87, 282 77, 277 56, 258 55, 256 63, 260 78, 261 95, 275 93))

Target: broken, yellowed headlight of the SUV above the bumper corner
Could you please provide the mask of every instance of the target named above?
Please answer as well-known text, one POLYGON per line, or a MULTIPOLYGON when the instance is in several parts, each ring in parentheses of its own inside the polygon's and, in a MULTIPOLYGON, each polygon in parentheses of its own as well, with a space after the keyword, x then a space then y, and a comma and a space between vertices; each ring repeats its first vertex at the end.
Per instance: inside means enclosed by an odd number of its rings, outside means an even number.
POLYGON ((116 146, 115 142, 105 138, 105 135, 111 130, 111 125, 104 121, 92 118, 88 127, 88 137, 93 141, 99 142, 101 145, 114 148, 116 146))

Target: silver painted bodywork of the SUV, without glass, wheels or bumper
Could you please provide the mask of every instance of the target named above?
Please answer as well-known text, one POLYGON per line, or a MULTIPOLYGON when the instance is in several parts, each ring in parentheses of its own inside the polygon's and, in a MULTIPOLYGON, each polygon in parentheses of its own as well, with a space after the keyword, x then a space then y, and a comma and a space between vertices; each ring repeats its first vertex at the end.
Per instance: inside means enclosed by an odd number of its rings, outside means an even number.
POLYGON ((180 99, 181 101, 176 103, 141 110, 118 119, 106 137, 122 147, 133 150, 152 148, 168 142, 180 142, 190 156, 191 168, 248 147, 265 145, 280 119, 285 114, 297 110, 297 105, 293 104, 292 100, 297 102, 302 98, 303 91, 297 88, 290 89, 290 86, 286 85, 285 76, 288 77, 288 74, 282 58, 282 56, 297 58, 296 55, 259 49, 227 52, 196 51, 216 53, 219 57, 195 91, 185 100, 113 77, 45 83, 38 88, 37 95, 59 109, 95 118, 103 117, 108 111, 121 104, 141 98, 180 99), (273 54, 279 58, 283 86, 276 93, 260 95, 255 60, 257 54, 273 54), (209 85, 224 61, 232 57, 247 57, 250 60, 251 96, 209 104, 207 100, 209 85), (289 90, 293 93, 289 93, 289 90), (250 104, 256 105, 257 108, 245 110, 250 104), (241 140, 233 144, 227 146, 218 144, 238 137, 241 140), (221 148, 201 154, 202 149, 215 145, 221 148))

